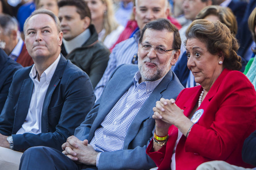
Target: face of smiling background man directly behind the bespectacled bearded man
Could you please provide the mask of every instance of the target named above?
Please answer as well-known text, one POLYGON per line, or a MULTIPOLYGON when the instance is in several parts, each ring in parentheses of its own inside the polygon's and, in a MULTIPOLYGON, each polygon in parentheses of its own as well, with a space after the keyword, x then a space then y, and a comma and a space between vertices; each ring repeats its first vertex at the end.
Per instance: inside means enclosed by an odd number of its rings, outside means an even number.
POLYGON ((166 0, 138 0, 133 8, 135 20, 140 29, 148 22, 158 18, 167 18, 170 9, 166 7, 166 0))

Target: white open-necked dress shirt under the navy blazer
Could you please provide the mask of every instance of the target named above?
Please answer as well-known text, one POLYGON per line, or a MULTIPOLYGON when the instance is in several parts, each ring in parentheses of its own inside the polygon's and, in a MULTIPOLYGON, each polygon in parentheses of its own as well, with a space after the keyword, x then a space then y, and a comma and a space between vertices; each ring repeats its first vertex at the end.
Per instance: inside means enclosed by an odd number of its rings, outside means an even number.
POLYGON ((60 54, 58 58, 42 73, 40 81, 38 81, 38 73, 36 71, 36 67, 33 65, 29 76, 34 82, 34 87, 28 108, 28 114, 25 122, 22 124, 21 128, 17 131, 16 134, 41 133, 41 116, 44 98, 51 78, 59 63, 59 59, 60 54))

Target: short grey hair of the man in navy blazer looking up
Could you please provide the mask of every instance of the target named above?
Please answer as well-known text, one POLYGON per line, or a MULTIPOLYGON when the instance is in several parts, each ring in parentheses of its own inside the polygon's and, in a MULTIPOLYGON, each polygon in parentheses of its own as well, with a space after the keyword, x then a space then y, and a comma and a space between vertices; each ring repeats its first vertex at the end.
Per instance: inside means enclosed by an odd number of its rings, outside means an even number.
POLYGON ((61 32, 61 26, 60 26, 59 18, 53 12, 51 12, 48 9, 37 9, 34 12, 32 12, 32 14, 26 19, 26 21, 24 23, 24 26, 23 26, 23 28, 24 28, 24 36, 26 36, 26 25, 28 23, 28 20, 30 20, 30 18, 32 16, 36 15, 36 14, 47 14, 47 15, 49 15, 55 21, 58 33, 61 32))

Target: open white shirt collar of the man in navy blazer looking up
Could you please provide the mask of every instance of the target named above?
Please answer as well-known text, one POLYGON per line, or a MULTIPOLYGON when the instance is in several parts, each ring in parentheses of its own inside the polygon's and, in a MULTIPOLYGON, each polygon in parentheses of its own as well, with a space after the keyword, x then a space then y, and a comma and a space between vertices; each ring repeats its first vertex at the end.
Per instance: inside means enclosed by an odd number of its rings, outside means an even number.
MULTIPOLYGON (((49 84, 49 82, 51 81, 51 78, 57 68, 60 58, 61 58, 61 55, 59 54, 57 59, 42 73, 41 77, 46 76, 47 84, 49 84)), ((37 73, 35 64, 32 66, 29 76, 33 80, 33 82, 36 80, 38 73, 37 73)))

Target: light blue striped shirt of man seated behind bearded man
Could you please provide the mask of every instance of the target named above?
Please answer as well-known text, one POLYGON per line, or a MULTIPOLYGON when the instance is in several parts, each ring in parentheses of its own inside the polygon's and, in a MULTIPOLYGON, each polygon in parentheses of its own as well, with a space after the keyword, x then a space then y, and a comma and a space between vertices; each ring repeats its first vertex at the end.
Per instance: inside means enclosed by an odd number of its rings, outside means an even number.
POLYGON ((131 64, 133 56, 138 52, 138 42, 141 36, 140 30, 138 30, 133 37, 122 41, 113 48, 112 53, 109 56, 108 66, 94 89, 96 100, 99 99, 104 87, 106 86, 111 73, 115 68, 121 64, 131 64))

